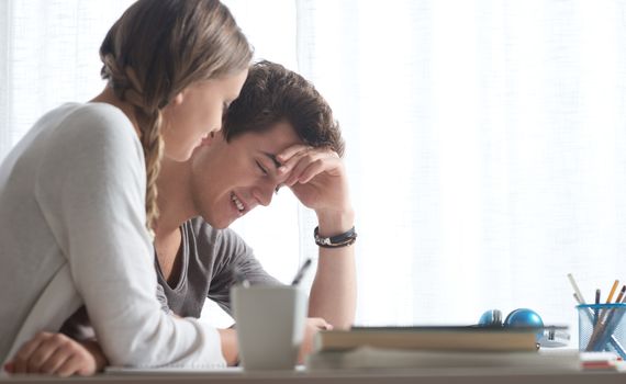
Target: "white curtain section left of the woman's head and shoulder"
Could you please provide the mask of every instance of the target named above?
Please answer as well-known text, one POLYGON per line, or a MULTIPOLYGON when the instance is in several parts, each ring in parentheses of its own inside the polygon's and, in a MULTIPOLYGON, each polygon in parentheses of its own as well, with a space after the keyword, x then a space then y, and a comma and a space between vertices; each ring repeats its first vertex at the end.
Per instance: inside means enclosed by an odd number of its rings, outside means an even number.
POLYGON ((42 114, 101 91, 98 49, 130 3, 0 1, 0 160, 42 114))

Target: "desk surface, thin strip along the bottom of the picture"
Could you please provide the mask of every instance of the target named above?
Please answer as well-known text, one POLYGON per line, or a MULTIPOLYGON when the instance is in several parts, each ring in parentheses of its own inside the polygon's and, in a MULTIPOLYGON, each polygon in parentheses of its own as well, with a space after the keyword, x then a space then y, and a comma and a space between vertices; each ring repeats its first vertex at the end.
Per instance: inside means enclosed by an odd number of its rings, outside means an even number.
MULTIPOLYGON (((9 383, 55 383, 60 380, 48 376, 2 377, 9 383)), ((452 370, 376 370, 376 371, 293 371, 243 372, 238 369, 223 371, 163 371, 109 373, 92 377, 72 377, 72 383, 228 383, 228 384, 613 384, 626 383, 626 373, 617 372, 516 372, 511 369, 452 369, 452 370)))

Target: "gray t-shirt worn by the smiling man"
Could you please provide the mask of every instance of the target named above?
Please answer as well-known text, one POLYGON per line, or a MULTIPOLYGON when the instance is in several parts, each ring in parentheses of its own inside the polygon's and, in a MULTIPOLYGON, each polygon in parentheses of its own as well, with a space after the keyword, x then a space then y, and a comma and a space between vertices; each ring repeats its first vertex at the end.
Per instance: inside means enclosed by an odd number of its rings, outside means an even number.
POLYGON ((234 270, 245 273, 250 284, 280 284, 270 276, 254 257, 253 250, 232 229, 215 229, 201 217, 182 226, 180 275, 176 286, 169 286, 155 257, 161 304, 182 317, 200 317, 204 301, 211 298, 226 313, 231 309, 231 286, 235 284, 234 270), (163 294, 167 300, 164 302, 163 294))

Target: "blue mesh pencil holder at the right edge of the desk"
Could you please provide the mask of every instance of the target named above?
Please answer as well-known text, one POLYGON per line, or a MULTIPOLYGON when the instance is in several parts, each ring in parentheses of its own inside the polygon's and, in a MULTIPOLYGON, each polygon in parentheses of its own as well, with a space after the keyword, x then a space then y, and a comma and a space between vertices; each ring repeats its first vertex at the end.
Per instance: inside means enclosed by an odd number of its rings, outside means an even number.
POLYGON ((579 350, 610 351, 626 359, 626 304, 582 304, 577 309, 579 350))

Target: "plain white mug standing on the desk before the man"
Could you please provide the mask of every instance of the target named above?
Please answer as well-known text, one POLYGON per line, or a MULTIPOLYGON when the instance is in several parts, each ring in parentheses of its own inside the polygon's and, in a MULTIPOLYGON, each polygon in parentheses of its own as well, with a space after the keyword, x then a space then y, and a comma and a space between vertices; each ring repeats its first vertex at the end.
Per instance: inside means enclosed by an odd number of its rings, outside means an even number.
POLYGON ((293 285, 231 289, 244 370, 293 370, 304 338, 308 296, 293 285))

